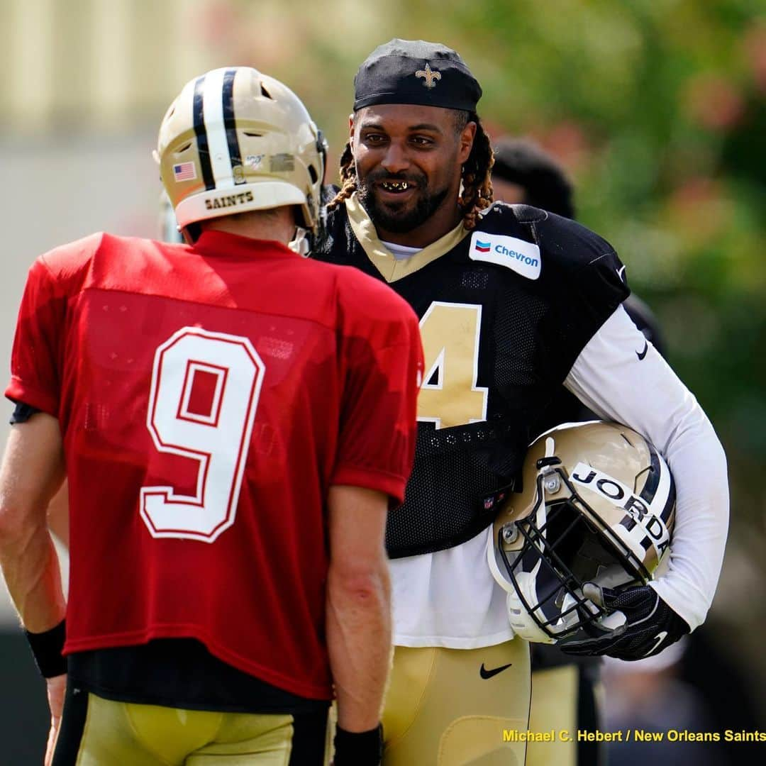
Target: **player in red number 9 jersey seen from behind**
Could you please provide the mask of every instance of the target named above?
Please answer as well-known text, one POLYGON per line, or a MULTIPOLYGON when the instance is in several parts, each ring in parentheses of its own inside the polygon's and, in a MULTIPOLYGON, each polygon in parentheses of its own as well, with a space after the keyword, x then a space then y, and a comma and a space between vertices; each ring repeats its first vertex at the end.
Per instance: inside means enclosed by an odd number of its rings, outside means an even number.
POLYGON ((47 678, 47 761, 319 764, 334 690, 336 763, 375 764, 417 317, 294 251, 324 146, 282 83, 191 80, 157 159, 186 244, 58 247, 18 317, 0 558, 47 678), (64 473, 68 601, 45 521, 64 473))

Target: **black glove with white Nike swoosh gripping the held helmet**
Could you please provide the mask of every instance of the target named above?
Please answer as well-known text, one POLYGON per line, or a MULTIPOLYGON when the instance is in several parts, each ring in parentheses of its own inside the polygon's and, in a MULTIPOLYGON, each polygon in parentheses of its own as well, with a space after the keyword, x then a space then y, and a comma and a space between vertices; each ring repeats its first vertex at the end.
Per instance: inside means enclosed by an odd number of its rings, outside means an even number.
POLYGON ((686 621, 648 585, 613 591, 611 588, 599 588, 593 583, 587 583, 583 594, 610 613, 622 612, 626 618, 625 624, 615 630, 591 625, 588 632, 592 633, 592 637, 558 643, 561 651, 567 654, 606 654, 617 660, 643 660, 644 657, 660 653, 691 632, 686 621))

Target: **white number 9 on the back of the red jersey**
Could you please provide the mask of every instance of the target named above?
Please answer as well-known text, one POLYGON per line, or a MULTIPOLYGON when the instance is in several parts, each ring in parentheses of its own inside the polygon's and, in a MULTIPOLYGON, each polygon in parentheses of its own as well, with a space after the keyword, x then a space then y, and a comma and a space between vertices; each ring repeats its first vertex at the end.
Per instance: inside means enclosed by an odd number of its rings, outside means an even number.
POLYGON ((172 486, 141 488, 141 518, 152 537, 213 542, 234 523, 264 372, 240 336, 183 327, 159 346, 146 426, 160 452, 199 467, 193 496, 172 486))

